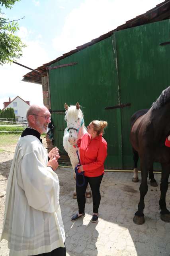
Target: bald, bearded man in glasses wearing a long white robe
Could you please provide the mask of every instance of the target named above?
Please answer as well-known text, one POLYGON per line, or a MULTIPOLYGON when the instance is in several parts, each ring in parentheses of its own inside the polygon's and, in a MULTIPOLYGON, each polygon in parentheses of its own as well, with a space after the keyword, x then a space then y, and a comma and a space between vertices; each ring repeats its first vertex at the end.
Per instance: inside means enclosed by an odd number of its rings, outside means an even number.
POLYGON ((65 256, 65 233, 59 205, 58 148, 49 155, 40 135, 47 132, 49 110, 32 105, 28 127, 16 146, 6 191, 1 240, 10 256, 65 256), (48 161, 49 156, 49 161, 48 161))

